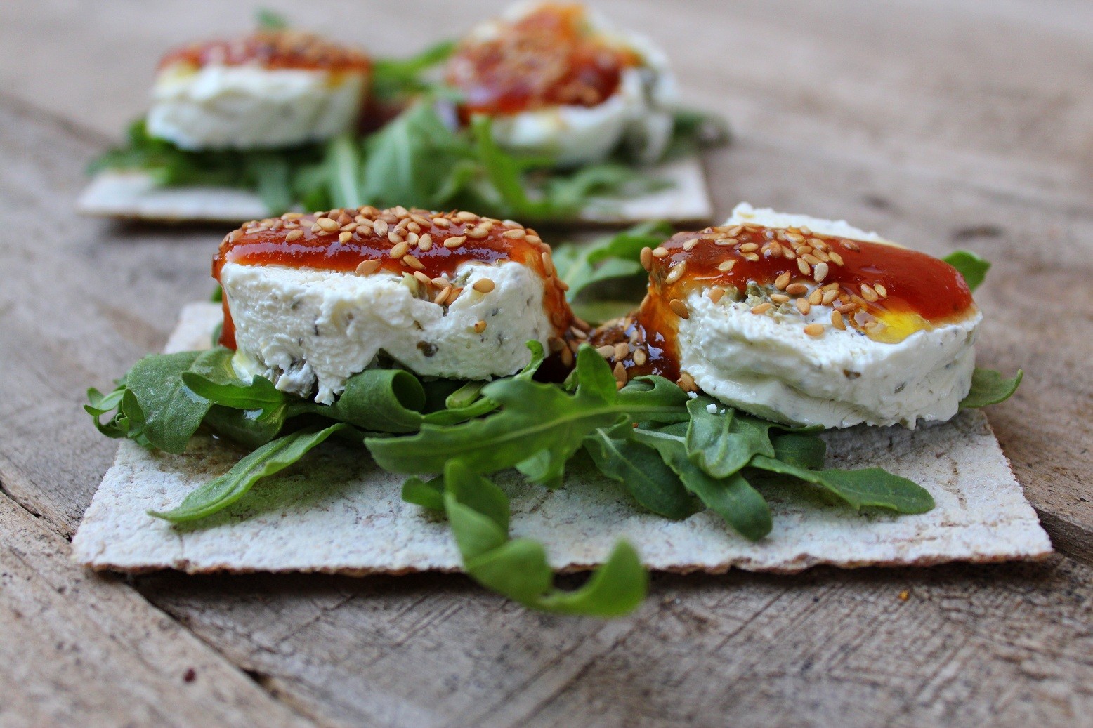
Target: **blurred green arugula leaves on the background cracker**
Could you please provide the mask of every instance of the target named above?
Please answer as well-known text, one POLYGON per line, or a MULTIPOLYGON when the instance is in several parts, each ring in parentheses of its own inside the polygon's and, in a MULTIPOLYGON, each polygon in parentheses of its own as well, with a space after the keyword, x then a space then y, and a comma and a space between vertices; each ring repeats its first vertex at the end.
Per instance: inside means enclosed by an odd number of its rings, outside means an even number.
MULTIPOLYGON (((277 27, 283 21, 262 23, 277 27)), ((291 149, 192 152, 150 137, 140 119, 126 143, 95 160, 90 172, 136 169, 171 187, 239 187, 257 192, 271 215, 293 208, 402 204, 475 210, 526 223, 572 221, 592 197, 624 198, 663 186, 625 145, 607 161, 559 169, 551 158, 503 150, 486 116, 460 127, 456 92, 432 80, 454 49, 453 42, 444 42, 413 58, 375 61, 373 106, 402 110, 372 132, 291 149)), ((727 139, 722 121, 681 108, 665 157, 727 139)))

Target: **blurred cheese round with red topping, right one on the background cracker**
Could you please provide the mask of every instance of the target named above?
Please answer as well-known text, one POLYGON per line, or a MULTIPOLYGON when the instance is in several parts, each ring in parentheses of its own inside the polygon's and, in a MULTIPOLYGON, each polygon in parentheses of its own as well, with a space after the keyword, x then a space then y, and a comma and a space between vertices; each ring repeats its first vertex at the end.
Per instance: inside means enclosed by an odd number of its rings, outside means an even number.
POLYGON ((465 115, 486 114, 498 144, 559 166, 597 162, 625 142, 663 154, 675 83, 663 52, 579 4, 521 3, 475 27, 449 61, 465 115))

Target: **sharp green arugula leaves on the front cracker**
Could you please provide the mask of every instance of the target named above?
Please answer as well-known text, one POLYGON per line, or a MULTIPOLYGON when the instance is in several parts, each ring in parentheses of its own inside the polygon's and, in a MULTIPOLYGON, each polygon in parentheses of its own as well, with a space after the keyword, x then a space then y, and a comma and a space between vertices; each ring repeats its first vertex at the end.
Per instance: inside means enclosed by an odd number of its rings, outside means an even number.
MULTIPOLYGON (((662 223, 650 223, 591 245, 560 246, 559 270, 573 302, 587 300, 593 282, 643 280, 640 248, 662 240, 663 232, 662 223)), ((972 287, 988 268, 964 251, 947 260, 972 287)), ((240 380, 233 352, 222 347, 153 354, 113 391, 89 390, 85 409, 103 434, 144 447, 181 453, 205 427, 250 450, 175 508, 151 514, 172 522, 222 510, 329 437, 354 443, 380 467, 409 477, 403 500, 447 516, 473 579, 554 612, 613 617, 635 609, 647 584, 638 555, 621 541, 583 587, 556 588, 542 544, 509 538, 508 500, 491 473, 515 468, 531 484, 559 488, 566 463, 583 450, 639 507, 670 519, 708 508, 751 540, 772 528, 769 507, 750 483, 756 474, 783 477, 837 507, 897 514, 933 507, 925 489, 880 468, 824 468, 826 446, 818 428, 762 420, 705 395, 687 395, 658 376, 616 389, 609 365, 589 345, 580 349, 563 384, 537 381, 543 349, 536 341, 528 348, 531 362, 522 372, 490 383, 367 369, 349 379, 333 404, 286 395, 262 377, 240 380)), ((961 406, 1000 402, 1020 380, 1021 372, 1007 379, 977 369, 961 406)))

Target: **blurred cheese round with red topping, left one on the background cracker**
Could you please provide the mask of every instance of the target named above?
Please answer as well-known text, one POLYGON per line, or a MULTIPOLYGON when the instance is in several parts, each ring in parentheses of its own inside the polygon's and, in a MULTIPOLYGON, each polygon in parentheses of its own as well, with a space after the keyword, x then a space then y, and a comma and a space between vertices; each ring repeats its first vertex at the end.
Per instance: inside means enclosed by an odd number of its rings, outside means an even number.
POLYGON ((368 69, 360 52, 290 31, 190 46, 161 63, 148 131, 187 150, 328 139, 355 122, 368 69))

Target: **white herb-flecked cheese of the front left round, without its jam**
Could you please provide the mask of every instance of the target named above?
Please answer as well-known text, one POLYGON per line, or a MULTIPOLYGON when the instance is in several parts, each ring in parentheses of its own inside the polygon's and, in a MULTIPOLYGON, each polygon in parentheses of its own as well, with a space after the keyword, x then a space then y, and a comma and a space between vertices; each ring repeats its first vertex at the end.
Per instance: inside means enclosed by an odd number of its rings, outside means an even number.
POLYGON ((240 373, 322 403, 380 352, 419 375, 489 379, 518 372, 531 357, 526 342, 545 347, 554 334, 542 278, 513 261, 460 265, 454 284, 465 291, 447 307, 422 297, 412 277, 386 272, 227 263, 221 284, 240 373), (471 287, 483 278, 493 291, 471 287))

